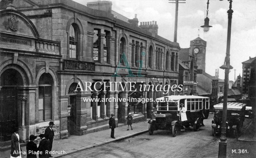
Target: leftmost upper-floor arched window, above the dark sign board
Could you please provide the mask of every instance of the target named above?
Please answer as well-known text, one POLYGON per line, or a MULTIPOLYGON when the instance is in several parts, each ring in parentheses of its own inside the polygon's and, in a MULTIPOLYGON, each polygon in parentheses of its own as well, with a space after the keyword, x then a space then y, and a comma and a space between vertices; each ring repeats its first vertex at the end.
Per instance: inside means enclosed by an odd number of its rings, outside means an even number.
POLYGON ((69 27, 69 57, 70 58, 77 58, 77 52, 78 52, 78 34, 79 34, 78 26, 73 23, 69 27))

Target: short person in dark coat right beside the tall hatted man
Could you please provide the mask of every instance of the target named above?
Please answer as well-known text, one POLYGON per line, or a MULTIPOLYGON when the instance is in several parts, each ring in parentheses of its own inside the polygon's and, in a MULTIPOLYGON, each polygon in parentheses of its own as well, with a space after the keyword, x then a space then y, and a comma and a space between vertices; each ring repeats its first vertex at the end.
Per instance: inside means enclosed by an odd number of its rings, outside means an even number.
POLYGON ((49 158, 49 144, 50 141, 45 138, 44 134, 40 134, 38 137, 41 138, 41 141, 38 146, 38 151, 39 151, 39 158, 49 158))

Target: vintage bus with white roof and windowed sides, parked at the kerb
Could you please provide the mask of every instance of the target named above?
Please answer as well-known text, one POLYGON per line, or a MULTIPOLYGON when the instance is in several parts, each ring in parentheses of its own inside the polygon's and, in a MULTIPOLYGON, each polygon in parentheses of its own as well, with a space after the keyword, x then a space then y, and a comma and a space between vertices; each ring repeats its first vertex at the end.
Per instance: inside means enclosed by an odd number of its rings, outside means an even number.
POLYGON ((157 130, 170 130, 175 137, 180 129, 193 127, 194 131, 199 131, 203 120, 209 115, 209 98, 194 95, 171 95, 156 99, 157 112, 154 113, 156 119, 149 120, 148 132, 150 135, 157 130), (187 117, 183 121, 180 117, 180 105, 184 105, 182 111, 187 117))

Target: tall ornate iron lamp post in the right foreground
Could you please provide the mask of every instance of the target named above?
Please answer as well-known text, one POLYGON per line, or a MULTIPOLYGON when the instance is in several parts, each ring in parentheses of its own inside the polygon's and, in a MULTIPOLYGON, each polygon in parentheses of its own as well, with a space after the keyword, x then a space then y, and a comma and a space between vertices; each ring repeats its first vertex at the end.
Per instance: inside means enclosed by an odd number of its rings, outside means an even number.
MULTIPOLYGON (((220 0, 222 1, 222 0, 220 0)), ((222 124, 221 124, 221 137, 219 139, 219 153, 218 158, 226 158, 227 156, 227 138, 226 138, 226 120, 227 120, 227 101, 228 101, 228 74, 229 70, 233 67, 230 65, 230 37, 231 37, 231 22, 232 22, 232 0, 229 1, 228 10, 228 37, 227 37, 227 49, 224 64, 220 67, 225 70, 224 79, 224 96, 223 96, 223 112, 222 112, 222 124)), ((208 0, 209 2, 209 0, 208 0)))

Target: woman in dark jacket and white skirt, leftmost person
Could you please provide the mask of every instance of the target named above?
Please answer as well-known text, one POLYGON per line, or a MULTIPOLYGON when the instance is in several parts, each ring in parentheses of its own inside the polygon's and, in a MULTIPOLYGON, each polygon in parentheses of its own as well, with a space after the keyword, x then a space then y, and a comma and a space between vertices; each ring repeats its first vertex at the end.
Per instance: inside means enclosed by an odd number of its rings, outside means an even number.
POLYGON ((21 153, 22 150, 20 148, 20 136, 19 136, 19 128, 15 127, 13 130, 13 134, 11 135, 11 157, 10 158, 22 158, 21 153))

